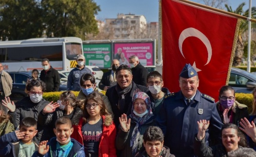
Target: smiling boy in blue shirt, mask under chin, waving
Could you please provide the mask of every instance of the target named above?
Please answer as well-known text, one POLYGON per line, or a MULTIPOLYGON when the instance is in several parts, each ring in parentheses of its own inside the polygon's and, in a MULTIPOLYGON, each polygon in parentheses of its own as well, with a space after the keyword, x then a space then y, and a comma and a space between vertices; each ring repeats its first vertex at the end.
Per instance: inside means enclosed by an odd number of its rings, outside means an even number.
POLYGON ((32 157, 85 157, 84 146, 70 138, 73 130, 69 117, 60 117, 53 129, 56 137, 49 142, 40 142, 38 151, 32 157))

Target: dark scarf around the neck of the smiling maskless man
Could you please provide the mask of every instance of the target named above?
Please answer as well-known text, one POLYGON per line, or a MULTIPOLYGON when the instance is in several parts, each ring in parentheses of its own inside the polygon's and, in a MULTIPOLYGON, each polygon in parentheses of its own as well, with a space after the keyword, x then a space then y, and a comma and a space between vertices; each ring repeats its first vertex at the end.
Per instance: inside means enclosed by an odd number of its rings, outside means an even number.
POLYGON ((118 105, 117 108, 121 113, 124 113, 124 106, 125 106, 125 95, 127 93, 129 93, 129 91, 131 91, 132 89, 132 84, 133 82, 126 88, 121 89, 119 84, 117 84, 117 86, 115 87, 115 89, 117 90, 117 95, 119 97, 118 99, 118 105))

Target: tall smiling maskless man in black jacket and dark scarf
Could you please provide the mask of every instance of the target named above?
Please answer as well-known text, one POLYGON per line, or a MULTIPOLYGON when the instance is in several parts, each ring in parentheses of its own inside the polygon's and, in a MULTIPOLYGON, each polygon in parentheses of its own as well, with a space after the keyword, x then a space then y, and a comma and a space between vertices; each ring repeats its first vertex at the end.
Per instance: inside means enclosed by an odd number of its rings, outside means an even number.
POLYGON ((148 88, 137 85, 132 81, 132 71, 127 65, 122 64, 117 68, 115 73, 117 84, 108 88, 106 96, 110 101, 113 114, 115 115, 114 123, 116 126, 119 126, 119 117, 123 113, 126 115, 131 114, 134 92, 138 91, 138 89, 147 92, 148 88))

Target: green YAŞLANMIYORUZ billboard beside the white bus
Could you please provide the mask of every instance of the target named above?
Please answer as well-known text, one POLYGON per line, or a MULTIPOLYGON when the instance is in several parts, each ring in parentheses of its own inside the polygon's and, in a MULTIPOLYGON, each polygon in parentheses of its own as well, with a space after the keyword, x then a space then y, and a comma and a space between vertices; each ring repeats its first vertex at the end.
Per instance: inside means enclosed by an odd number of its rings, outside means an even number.
POLYGON ((99 68, 111 68, 111 43, 106 44, 83 44, 86 65, 98 66, 99 68))

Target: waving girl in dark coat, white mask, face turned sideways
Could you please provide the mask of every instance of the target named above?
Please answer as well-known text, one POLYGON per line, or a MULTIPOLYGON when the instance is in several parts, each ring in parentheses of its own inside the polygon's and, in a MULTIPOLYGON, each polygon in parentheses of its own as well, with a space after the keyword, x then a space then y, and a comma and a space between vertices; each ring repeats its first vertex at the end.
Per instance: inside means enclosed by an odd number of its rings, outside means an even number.
MULTIPOLYGON (((55 137, 53 128, 59 117, 67 116, 71 120, 72 126, 78 124, 82 117, 83 101, 76 101, 75 94, 72 91, 65 91, 60 95, 58 104, 64 106, 64 109, 57 108, 53 110, 52 106, 47 105, 38 115, 38 123, 45 126, 46 129, 42 135, 41 141, 49 140, 55 137)), ((72 137, 72 135, 71 135, 72 137)))

